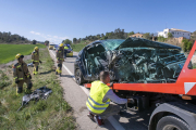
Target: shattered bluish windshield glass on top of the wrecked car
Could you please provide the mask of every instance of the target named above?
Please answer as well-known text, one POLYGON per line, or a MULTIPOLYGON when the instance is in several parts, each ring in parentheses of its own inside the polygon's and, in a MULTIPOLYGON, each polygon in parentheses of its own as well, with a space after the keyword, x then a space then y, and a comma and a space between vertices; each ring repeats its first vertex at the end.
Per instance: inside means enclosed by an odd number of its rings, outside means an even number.
POLYGON ((124 41, 125 40, 123 40, 123 39, 110 39, 110 40, 102 41, 102 43, 105 44, 105 47, 108 50, 114 50, 115 48, 118 48, 124 41))

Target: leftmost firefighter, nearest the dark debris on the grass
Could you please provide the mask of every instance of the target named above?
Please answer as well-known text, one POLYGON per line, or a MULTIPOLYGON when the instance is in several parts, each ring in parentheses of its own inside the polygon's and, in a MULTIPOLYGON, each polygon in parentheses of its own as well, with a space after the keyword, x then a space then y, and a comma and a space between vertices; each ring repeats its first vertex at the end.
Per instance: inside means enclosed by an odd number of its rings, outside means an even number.
POLYGON ((27 64, 23 61, 24 55, 22 54, 16 54, 15 58, 17 60, 17 63, 13 65, 13 76, 15 79, 15 83, 17 84, 16 88, 16 95, 19 93, 23 92, 23 83, 26 82, 27 84, 27 93, 30 93, 30 89, 33 87, 33 83, 30 81, 32 76, 29 74, 27 64))

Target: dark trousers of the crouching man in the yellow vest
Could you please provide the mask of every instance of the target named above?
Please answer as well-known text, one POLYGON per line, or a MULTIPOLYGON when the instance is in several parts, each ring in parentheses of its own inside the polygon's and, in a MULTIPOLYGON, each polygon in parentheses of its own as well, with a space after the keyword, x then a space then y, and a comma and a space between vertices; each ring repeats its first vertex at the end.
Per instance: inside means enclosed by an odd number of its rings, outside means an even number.
POLYGON ((120 110, 121 109, 118 105, 110 104, 102 114, 95 114, 95 113, 91 113, 91 114, 100 116, 101 119, 107 119, 108 117, 112 115, 119 114, 120 110))

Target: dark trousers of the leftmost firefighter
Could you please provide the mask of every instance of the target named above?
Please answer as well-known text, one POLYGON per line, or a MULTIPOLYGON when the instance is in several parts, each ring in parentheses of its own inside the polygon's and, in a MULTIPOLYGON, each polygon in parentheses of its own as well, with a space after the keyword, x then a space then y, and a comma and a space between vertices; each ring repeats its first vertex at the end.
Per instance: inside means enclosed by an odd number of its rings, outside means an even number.
POLYGON ((27 89, 30 90, 33 87, 33 83, 30 81, 29 78, 25 78, 25 80, 20 80, 20 82, 17 83, 17 93, 22 93, 23 92, 23 84, 24 82, 27 84, 27 89))

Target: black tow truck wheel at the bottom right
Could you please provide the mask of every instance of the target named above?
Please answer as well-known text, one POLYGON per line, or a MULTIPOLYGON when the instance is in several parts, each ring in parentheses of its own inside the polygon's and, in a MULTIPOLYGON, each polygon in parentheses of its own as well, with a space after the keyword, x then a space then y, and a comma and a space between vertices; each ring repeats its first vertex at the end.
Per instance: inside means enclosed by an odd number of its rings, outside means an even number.
POLYGON ((156 130, 191 130, 191 128, 185 121, 175 116, 166 116, 158 121, 156 130))

